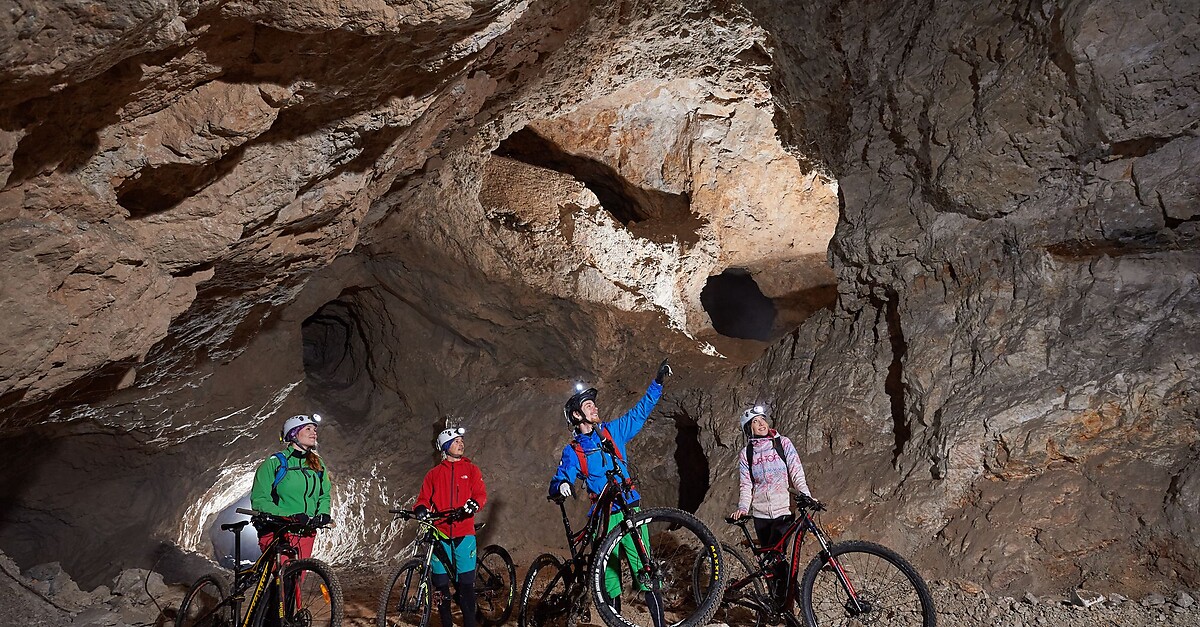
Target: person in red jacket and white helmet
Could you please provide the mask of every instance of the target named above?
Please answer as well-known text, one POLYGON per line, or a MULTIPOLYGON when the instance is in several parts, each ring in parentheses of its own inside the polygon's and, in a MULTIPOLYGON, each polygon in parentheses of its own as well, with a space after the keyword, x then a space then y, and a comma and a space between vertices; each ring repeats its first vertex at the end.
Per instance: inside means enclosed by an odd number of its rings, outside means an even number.
POLYGON ((455 512, 450 519, 434 524, 449 539, 440 541, 442 550, 433 551, 433 586, 440 592, 438 611, 442 627, 451 627, 450 579, 455 580, 463 627, 475 627, 475 512, 487 502, 484 474, 462 454, 466 444, 463 428, 446 429, 438 434, 442 462, 425 474, 416 507, 422 512, 455 512), (449 563, 448 563, 449 562, 449 563))

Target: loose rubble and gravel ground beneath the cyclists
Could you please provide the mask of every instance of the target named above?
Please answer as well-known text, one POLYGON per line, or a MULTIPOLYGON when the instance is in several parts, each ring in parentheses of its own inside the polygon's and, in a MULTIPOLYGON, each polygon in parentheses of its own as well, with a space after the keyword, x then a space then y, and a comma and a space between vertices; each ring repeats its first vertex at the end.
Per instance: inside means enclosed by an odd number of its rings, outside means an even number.
MULTIPOLYGON (((347 627, 374 625, 376 603, 383 575, 374 569, 341 571, 346 590, 347 627)), ((962 580, 935 580, 930 589, 942 626, 1006 627, 1159 627, 1200 626, 1198 591, 1177 590, 1130 599, 1075 591, 1069 595, 1034 595, 1021 598, 991 595, 983 586, 962 580)), ((0 625, 32 627, 149 627, 174 623, 174 608, 185 589, 163 583, 157 573, 124 571, 110 586, 90 592, 56 563, 20 572, 0 554, 0 625), (148 580, 149 578, 149 580, 148 580)), ((510 620, 515 625, 516 617, 510 620)))

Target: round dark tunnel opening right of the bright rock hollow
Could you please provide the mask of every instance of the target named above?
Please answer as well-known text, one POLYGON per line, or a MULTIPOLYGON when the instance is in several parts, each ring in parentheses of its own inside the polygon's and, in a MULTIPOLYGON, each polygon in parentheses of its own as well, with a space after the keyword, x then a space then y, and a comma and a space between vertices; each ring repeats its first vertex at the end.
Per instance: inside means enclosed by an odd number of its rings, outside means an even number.
POLYGON ((742 340, 770 340, 775 304, 762 293, 748 270, 728 268, 709 276, 700 292, 700 304, 716 333, 742 340))

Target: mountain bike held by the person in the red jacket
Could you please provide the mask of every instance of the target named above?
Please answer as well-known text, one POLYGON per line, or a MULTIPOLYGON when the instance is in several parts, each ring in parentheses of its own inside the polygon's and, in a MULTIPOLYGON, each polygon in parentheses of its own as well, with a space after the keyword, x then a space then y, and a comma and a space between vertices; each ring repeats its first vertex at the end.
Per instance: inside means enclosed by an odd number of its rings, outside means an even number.
MULTIPOLYGON (((418 514, 409 509, 392 509, 392 514, 420 525, 418 551, 420 557, 408 560, 391 575, 391 583, 379 597, 376 621, 379 627, 413 625, 426 627, 434 608, 442 603, 442 592, 433 587, 431 565, 434 553, 442 563, 451 563, 438 541, 449 539, 434 526, 439 520, 452 520, 460 515, 455 510, 418 514)), ((479 531, 484 525, 475 525, 479 531)), ((517 568, 509 551, 498 544, 488 544, 475 560, 475 617, 482 627, 504 625, 512 614, 516 597, 517 568)), ((440 625, 437 622, 436 625, 440 625)))

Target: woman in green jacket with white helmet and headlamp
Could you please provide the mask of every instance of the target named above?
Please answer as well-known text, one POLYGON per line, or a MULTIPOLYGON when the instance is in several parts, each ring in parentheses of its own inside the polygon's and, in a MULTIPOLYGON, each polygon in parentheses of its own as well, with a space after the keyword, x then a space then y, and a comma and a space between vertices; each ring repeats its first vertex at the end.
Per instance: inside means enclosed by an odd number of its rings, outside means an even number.
MULTIPOLYGON (((293 416, 283 422, 280 440, 288 446, 263 460, 254 471, 250 489, 250 507, 276 516, 308 522, 313 527, 328 525, 329 471, 317 454, 317 423, 320 416, 293 416), (280 468, 284 467, 280 473, 280 468)), ((271 529, 258 530, 258 547, 266 550, 275 538, 271 529)), ((288 536, 300 557, 312 556, 313 536, 288 536)))

